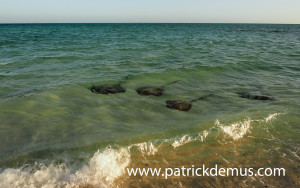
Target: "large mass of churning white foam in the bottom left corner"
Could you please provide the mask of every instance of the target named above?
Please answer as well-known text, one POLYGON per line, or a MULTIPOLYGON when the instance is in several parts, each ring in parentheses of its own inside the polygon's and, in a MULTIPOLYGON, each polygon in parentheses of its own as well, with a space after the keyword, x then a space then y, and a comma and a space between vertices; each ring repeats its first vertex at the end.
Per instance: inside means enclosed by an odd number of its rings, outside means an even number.
POLYGON ((129 163, 128 149, 107 148, 73 173, 66 165, 8 168, 0 174, 0 187, 114 187, 114 180, 125 173, 129 163))

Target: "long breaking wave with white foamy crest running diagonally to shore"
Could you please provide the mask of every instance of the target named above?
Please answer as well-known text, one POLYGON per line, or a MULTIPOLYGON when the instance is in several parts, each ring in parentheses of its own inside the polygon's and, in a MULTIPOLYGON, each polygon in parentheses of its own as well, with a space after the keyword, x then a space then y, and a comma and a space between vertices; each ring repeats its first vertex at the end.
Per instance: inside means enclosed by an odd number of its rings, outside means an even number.
MULTIPOLYGON (((251 120, 230 123, 225 125, 219 120, 207 130, 195 134, 185 134, 168 139, 156 139, 129 146, 98 150, 85 165, 66 164, 46 166, 36 163, 33 166, 25 165, 22 168, 8 168, 1 170, 0 187, 116 187, 115 180, 124 175, 126 167, 132 160, 134 150, 141 155, 155 155, 163 144, 171 145, 174 150, 194 141, 204 142, 213 130, 218 130, 234 141, 250 133, 252 122, 270 122, 282 113, 270 114, 262 120, 251 120)), ((215 134, 212 134, 215 135, 215 134)))

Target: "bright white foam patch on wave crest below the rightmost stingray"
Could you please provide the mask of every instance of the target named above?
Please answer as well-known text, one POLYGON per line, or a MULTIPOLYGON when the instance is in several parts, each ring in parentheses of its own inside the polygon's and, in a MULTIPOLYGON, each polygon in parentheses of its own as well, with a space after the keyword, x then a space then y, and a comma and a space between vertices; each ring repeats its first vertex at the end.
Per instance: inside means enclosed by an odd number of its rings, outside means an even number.
POLYGON ((220 127, 225 134, 233 138, 233 140, 238 140, 250 132, 251 119, 249 118, 248 120, 232 123, 228 126, 223 125, 219 122, 219 120, 216 120, 215 124, 220 127))

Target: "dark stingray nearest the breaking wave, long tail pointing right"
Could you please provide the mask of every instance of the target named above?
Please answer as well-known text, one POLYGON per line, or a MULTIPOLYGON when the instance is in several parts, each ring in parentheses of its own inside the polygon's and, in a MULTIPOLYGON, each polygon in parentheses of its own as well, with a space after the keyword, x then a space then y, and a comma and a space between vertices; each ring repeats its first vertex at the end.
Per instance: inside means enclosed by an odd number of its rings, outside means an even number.
POLYGON ((203 97, 200 97, 198 99, 194 99, 191 101, 178 101, 178 100, 166 101, 166 106, 167 106, 167 108, 171 108, 171 109, 175 109, 175 110, 189 111, 192 108, 193 102, 206 99, 207 97, 210 97, 210 96, 212 96, 212 94, 205 95, 203 97))

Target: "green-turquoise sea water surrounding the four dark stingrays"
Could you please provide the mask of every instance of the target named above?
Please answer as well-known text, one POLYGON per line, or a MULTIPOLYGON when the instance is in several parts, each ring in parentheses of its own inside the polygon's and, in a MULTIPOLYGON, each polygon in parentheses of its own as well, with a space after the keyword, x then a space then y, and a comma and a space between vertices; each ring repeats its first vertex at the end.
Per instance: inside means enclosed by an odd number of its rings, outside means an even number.
POLYGON ((299 65, 300 25, 0 25, 0 187, 296 187, 299 65), (160 97, 135 91, 175 80, 160 97), (89 90, 120 81, 125 93, 89 90), (188 112, 165 107, 207 94, 188 112), (203 163, 288 176, 136 181, 123 171, 203 163))

